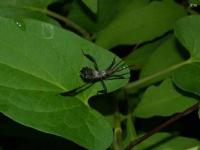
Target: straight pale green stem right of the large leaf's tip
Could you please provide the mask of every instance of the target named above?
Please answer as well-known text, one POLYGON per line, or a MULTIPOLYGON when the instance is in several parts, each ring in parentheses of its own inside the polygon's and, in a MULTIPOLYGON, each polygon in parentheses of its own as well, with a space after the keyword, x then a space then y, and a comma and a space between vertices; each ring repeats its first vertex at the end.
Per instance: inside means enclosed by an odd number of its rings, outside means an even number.
POLYGON ((152 74, 152 75, 150 75, 150 76, 148 76, 146 78, 140 79, 140 80, 135 81, 135 82, 131 82, 125 87, 125 90, 126 91, 129 91, 129 90, 134 91, 134 90, 139 90, 141 88, 144 88, 145 86, 153 83, 155 79, 157 79, 157 78, 159 78, 159 77, 161 77, 163 75, 166 75, 166 74, 168 74, 168 73, 180 68, 181 66, 184 66, 184 65, 192 63, 192 62, 193 61, 191 59, 188 59, 188 60, 186 60, 184 62, 181 62, 179 64, 173 65, 173 66, 171 66, 171 67, 169 67, 169 68, 167 68, 165 70, 162 70, 160 72, 152 74))

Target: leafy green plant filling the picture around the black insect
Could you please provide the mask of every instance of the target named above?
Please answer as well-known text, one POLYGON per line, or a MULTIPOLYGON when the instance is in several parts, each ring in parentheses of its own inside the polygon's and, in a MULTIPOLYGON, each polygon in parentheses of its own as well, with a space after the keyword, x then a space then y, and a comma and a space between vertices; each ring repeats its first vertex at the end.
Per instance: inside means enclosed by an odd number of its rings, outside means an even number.
POLYGON ((7 0, 0 2, 0 15, 5 116, 90 150, 200 147, 195 138, 160 132, 199 109, 198 12, 173 0, 7 0), (127 53, 123 45, 134 48, 127 53), (109 94, 102 96, 94 97, 99 82, 61 96, 83 85, 81 68, 93 66, 82 49, 101 69, 121 59, 110 51, 120 51, 135 66, 131 80, 106 81, 109 94), (154 116, 172 118, 147 133, 135 128, 136 118, 154 116))

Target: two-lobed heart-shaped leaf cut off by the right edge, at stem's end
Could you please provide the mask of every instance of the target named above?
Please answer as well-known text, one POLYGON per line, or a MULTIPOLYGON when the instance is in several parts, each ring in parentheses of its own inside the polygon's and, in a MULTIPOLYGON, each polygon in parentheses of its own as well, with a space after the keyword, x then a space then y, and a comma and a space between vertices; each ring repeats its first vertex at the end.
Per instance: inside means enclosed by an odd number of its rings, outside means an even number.
POLYGON ((175 84, 188 92, 200 95, 200 16, 188 16, 176 23, 175 34, 189 51, 191 58, 173 74, 175 84))

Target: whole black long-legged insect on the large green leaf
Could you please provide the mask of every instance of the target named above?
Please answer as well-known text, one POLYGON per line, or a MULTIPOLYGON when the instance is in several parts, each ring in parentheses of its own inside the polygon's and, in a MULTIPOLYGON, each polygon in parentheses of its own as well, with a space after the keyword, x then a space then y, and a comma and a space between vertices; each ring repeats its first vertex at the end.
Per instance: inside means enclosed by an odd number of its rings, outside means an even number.
POLYGON ((116 58, 114 57, 111 64, 108 66, 106 70, 100 70, 93 56, 86 54, 83 50, 82 50, 82 53, 89 61, 93 63, 94 68, 90 68, 87 66, 83 67, 80 70, 80 77, 85 82, 85 84, 83 84, 82 86, 78 88, 72 89, 70 91, 60 93, 62 96, 74 96, 88 89, 89 87, 94 85, 96 82, 101 82, 102 87, 103 87, 103 90, 98 91, 97 94, 105 94, 108 92, 106 84, 104 82, 105 80, 128 79, 124 75, 129 74, 129 72, 122 73, 122 74, 115 74, 117 72, 120 72, 128 68, 128 66, 125 66, 122 60, 116 63, 116 58))

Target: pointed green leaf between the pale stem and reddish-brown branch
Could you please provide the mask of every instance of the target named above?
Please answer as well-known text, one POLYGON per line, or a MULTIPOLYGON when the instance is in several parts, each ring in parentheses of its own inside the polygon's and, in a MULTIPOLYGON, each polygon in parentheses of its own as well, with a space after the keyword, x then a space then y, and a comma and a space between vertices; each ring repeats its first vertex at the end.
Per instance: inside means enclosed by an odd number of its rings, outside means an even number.
POLYGON ((197 102, 194 98, 183 96, 174 88, 170 79, 166 79, 158 87, 149 87, 133 115, 141 118, 153 116, 171 116, 182 112, 197 102))

